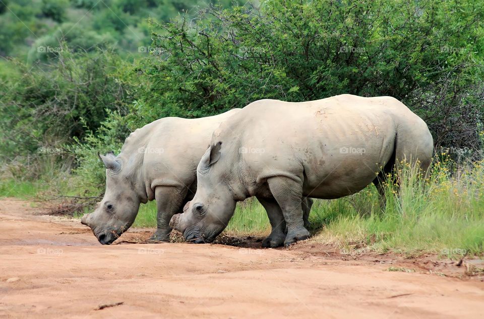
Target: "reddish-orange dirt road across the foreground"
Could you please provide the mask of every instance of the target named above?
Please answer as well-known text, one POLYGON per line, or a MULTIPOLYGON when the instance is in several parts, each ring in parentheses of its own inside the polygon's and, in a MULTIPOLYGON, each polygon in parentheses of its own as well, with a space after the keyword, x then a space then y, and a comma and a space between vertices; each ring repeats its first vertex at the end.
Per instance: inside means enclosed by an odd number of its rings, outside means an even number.
POLYGON ((484 311, 479 280, 389 272, 387 263, 297 247, 101 246, 77 220, 36 211, 0 201, 0 317, 477 318, 484 311), (116 302, 123 304, 95 310, 116 302))

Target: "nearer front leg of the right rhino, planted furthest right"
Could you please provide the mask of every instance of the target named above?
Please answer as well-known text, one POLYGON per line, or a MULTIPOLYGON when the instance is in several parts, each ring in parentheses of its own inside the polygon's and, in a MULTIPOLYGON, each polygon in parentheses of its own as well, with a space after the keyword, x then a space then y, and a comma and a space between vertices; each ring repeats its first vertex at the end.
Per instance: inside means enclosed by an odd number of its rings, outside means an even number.
POLYGON ((302 183, 282 176, 268 178, 267 183, 286 221, 284 245, 309 238, 311 234, 304 228, 302 213, 302 183))

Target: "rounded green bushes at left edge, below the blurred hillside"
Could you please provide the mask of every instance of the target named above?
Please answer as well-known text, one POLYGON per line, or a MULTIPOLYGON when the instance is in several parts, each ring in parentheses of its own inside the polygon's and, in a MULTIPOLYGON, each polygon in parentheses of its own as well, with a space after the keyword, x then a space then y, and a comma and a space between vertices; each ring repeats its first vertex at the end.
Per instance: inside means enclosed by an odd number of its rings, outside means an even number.
POLYGON ((0 100, 2 159, 83 139, 110 111, 126 114, 133 93, 123 79, 126 62, 108 50, 88 54, 62 48, 58 63, 47 68, 17 62, 23 76, 0 88, 5 94, 0 100))

